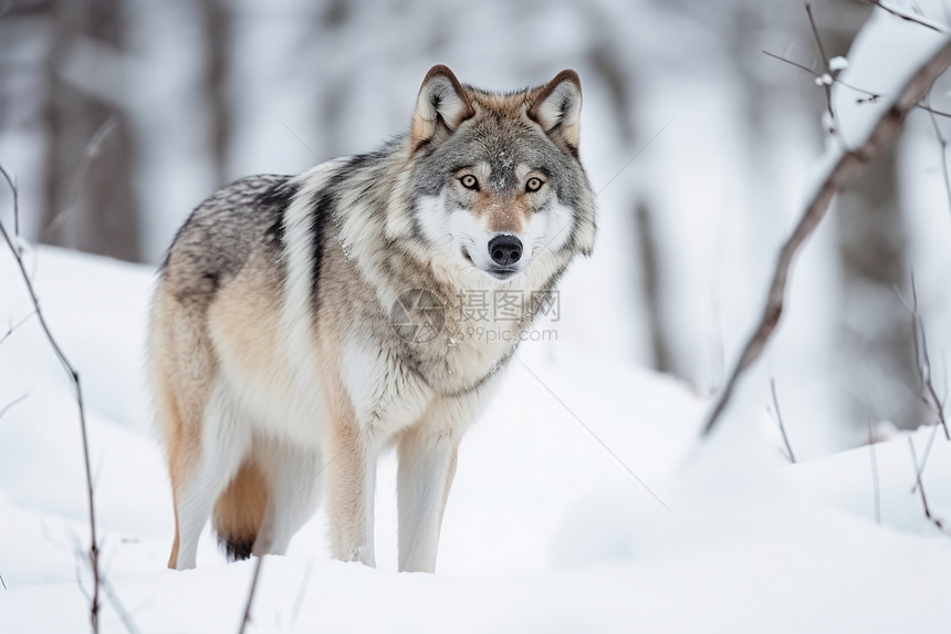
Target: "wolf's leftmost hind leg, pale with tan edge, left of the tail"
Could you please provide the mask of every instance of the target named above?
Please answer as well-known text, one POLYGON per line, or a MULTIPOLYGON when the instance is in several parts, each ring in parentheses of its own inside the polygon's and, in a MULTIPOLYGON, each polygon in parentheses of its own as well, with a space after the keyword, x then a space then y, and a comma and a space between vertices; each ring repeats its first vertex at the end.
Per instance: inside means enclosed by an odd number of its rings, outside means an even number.
MULTIPOLYGON (((195 568, 198 538, 218 496, 234 477, 250 448, 250 432, 241 425, 227 395, 218 387, 205 409, 198 447, 189 448, 192 465, 176 491, 178 561, 175 568, 195 568)), ((171 563, 171 562, 169 562, 171 563)))

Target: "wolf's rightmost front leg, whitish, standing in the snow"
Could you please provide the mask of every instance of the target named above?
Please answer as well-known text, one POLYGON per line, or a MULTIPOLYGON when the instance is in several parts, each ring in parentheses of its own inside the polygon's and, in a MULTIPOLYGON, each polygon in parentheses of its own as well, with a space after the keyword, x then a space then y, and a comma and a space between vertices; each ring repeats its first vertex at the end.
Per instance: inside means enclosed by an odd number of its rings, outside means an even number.
POLYGON ((459 434, 427 426, 399 439, 399 570, 433 572, 439 530, 452 478, 459 434))

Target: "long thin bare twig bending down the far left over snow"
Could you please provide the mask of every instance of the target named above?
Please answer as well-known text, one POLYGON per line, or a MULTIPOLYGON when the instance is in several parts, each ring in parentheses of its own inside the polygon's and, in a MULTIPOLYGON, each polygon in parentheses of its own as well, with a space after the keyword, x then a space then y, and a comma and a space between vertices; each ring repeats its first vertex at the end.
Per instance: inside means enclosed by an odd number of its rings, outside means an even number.
MULTIPOLYGON (((7 175, 7 172, 0 167, 0 170, 7 175)), ((13 187, 15 190, 15 186, 13 181, 7 176, 8 184, 13 187)), ((17 195, 13 196, 14 204, 18 200, 17 195)), ((19 211, 14 210, 14 214, 19 214, 19 211)), ((63 370, 70 376, 73 383, 73 387, 75 389, 75 398, 76 405, 79 406, 80 414, 80 432, 82 433, 83 439, 83 461, 85 464, 85 475, 86 475, 86 493, 88 501, 88 511, 90 511, 90 567, 93 571, 93 592, 91 597, 90 605, 90 624, 92 625, 92 630, 94 634, 97 634, 100 631, 100 548, 98 541, 96 540, 96 512, 95 505, 93 502, 93 477, 92 469, 90 467, 90 441, 88 434, 86 433, 86 409, 83 405, 83 389, 80 384, 80 373, 73 367, 70 361, 66 358, 66 355, 63 353, 63 350, 60 347, 60 344, 56 342, 56 339, 53 336, 52 331, 50 330, 49 324, 46 323, 46 318, 43 315, 43 311, 40 310, 40 300, 36 298, 36 291, 33 289, 33 282, 30 280, 30 276, 27 273, 27 267, 23 263, 23 257, 17 247, 13 245, 13 240, 10 238, 10 233, 7 232, 7 228, 0 222, 0 233, 3 236, 3 241, 7 242, 7 247, 10 249, 10 252, 13 254, 14 260, 17 261, 17 267, 20 269, 20 276, 23 279, 23 285, 27 289, 27 292, 30 294, 30 301, 33 303, 33 309, 36 313, 36 320, 40 322, 40 328, 43 329, 43 334, 46 336, 46 341, 50 343, 50 347, 53 350, 53 353, 59 358, 60 364, 62 364, 63 370)))

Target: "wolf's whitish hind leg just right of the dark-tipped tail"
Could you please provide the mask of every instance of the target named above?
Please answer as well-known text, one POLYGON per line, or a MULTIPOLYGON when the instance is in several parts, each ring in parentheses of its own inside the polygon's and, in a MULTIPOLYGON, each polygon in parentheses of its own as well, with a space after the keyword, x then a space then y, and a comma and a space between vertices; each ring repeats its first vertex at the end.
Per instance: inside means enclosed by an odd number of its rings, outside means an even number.
POLYGON ((252 552, 286 554, 301 527, 313 516, 321 497, 320 455, 275 441, 255 443, 254 460, 268 481, 268 509, 252 552))

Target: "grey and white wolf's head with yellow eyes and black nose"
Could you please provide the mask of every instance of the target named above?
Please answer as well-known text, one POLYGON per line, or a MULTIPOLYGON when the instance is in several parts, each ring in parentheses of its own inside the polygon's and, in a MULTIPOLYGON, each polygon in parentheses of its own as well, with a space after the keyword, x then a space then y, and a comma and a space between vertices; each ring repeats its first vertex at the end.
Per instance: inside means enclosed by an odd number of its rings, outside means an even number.
POLYGON ((509 94, 462 85, 442 65, 427 73, 406 195, 409 230, 433 263, 501 281, 540 268, 546 277, 591 252, 595 201, 578 159, 581 106, 574 71, 509 94))

